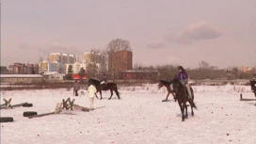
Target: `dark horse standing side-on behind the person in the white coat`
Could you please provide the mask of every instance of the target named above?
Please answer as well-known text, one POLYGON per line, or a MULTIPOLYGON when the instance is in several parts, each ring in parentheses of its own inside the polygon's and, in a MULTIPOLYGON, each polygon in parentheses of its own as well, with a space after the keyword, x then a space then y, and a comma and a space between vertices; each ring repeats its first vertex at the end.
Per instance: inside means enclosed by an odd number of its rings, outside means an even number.
MULTIPOLYGON (((118 90, 118 86, 116 83, 112 83, 112 82, 107 82, 107 83, 101 83, 101 81, 98 81, 96 79, 92 79, 90 78, 88 80, 88 82, 92 85, 94 85, 97 89, 97 92, 100 92, 101 94, 101 100, 103 99, 102 96, 102 90, 110 90, 111 92, 111 96, 108 98, 108 100, 110 100, 113 96, 113 91, 115 91, 116 95, 118 96, 118 98, 120 99, 120 92, 118 90)), ((96 97, 98 99, 98 96, 96 94, 96 97)))

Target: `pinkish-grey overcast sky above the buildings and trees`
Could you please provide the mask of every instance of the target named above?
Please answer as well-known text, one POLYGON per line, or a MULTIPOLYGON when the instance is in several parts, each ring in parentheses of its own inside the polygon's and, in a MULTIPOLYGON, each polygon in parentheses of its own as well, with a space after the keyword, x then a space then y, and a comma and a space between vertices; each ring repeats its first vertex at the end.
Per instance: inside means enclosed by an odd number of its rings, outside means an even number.
POLYGON ((1 0, 1 65, 129 40, 134 64, 256 67, 255 0, 1 0))

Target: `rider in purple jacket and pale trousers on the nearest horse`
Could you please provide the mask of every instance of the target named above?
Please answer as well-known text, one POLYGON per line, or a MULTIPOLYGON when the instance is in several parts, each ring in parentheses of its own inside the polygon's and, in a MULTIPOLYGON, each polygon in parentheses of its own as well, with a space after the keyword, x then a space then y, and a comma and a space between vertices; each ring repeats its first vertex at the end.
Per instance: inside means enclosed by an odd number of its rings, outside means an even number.
POLYGON ((183 86, 187 89, 188 91, 188 99, 191 99, 191 90, 190 90, 190 86, 188 84, 188 74, 187 72, 185 72, 184 67, 183 66, 179 66, 178 67, 178 75, 177 75, 177 79, 183 84, 183 86))

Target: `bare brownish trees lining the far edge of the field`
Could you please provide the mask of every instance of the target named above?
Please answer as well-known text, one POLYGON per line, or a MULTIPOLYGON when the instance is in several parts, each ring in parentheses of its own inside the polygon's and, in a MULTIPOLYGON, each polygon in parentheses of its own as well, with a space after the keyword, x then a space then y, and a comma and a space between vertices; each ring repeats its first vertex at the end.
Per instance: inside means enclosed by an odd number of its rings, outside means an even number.
MULTIPOLYGON (((130 42, 128 40, 116 39, 111 40, 108 44, 106 49, 103 51, 92 49, 91 52, 101 53, 104 56, 105 64, 108 63, 107 55, 111 55, 115 52, 127 50, 132 51, 130 42)), ((113 60, 113 59, 112 59, 113 60)), ((114 59, 114 62, 118 62, 118 60, 114 59)), ((106 65, 105 65, 106 67, 106 65)), ((178 65, 173 64, 166 64, 166 65, 158 65, 158 66, 143 66, 136 64, 134 65, 134 70, 147 70, 147 71, 157 71, 159 72, 159 79, 170 80, 177 74, 178 65)), ((184 67, 185 68, 185 67, 184 67)), ((216 66, 211 66, 207 61, 201 60, 199 62, 199 67, 196 69, 189 69, 185 68, 186 72, 188 72, 189 77, 191 79, 251 79, 255 78, 255 70, 251 72, 239 72, 239 70, 235 67, 232 70, 221 70, 218 69, 216 66)), ((118 71, 113 71, 112 73, 107 72, 106 68, 102 68, 102 70, 106 73, 106 75, 112 75, 111 77, 117 77, 118 71), (114 75, 114 76, 113 76, 114 75)), ((95 63, 88 63, 87 71, 84 68, 81 68, 79 75, 83 77, 87 75, 88 78, 94 77, 96 78, 96 73, 99 72, 97 65, 95 63)), ((71 79, 72 77, 72 65, 68 68, 67 79, 71 79)))

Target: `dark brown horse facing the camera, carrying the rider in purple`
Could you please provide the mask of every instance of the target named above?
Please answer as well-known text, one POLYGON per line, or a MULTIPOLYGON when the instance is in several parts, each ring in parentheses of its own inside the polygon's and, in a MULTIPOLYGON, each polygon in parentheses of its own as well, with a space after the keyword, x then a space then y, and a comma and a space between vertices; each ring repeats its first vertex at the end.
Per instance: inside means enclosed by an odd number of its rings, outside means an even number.
POLYGON ((184 121, 184 119, 187 119, 187 105, 186 102, 188 102, 190 104, 191 107, 191 115, 194 116, 194 111, 193 108, 197 109, 196 104, 194 103, 194 92, 193 92, 193 88, 190 87, 191 90, 191 96, 192 99, 188 99, 188 92, 187 89, 182 85, 182 83, 178 80, 178 79, 173 79, 172 81, 173 84, 173 89, 176 93, 176 99, 178 100, 178 104, 181 108, 182 111, 182 120, 184 121), (185 110, 185 114, 184 114, 184 110, 185 110))

